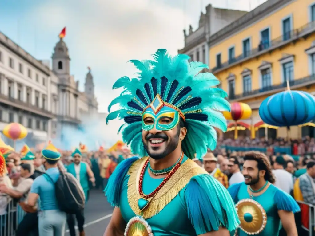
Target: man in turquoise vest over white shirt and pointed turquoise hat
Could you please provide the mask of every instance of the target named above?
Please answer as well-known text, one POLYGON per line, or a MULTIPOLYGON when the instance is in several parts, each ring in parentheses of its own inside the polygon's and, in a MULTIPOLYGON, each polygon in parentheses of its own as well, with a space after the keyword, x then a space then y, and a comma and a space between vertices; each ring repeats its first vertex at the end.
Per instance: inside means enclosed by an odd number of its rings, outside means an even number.
MULTIPOLYGON (((72 153, 73 162, 67 166, 67 171, 71 173, 74 177, 77 178, 77 181, 80 183, 81 187, 83 188, 84 195, 85 195, 85 202, 87 202, 89 198, 89 180, 92 182, 93 186, 95 186, 95 177, 93 171, 91 170, 90 166, 82 161, 82 153, 79 149, 75 149, 72 153)), ((84 236, 84 211, 78 211, 75 214, 78 223, 78 229, 80 232, 80 236, 84 236)), ((74 229, 74 215, 67 216, 67 223, 70 231, 71 236, 75 236, 75 229, 74 229)))

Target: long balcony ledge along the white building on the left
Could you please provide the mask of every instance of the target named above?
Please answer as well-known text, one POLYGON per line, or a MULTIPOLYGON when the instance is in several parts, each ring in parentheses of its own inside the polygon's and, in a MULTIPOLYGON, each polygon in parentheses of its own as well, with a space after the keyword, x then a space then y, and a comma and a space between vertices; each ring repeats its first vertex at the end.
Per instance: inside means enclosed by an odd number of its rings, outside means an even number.
POLYGON ((18 109, 25 110, 25 111, 49 118, 49 119, 55 118, 55 116, 48 110, 39 108, 35 105, 23 102, 19 99, 6 96, 4 94, 0 94, 0 103, 6 104, 8 106, 16 107, 18 109))

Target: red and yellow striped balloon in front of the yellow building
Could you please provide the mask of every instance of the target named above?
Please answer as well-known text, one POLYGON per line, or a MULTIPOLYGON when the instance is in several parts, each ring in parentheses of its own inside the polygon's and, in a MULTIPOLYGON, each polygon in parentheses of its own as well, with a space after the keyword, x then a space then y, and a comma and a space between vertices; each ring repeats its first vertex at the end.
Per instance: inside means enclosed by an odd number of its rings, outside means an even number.
POLYGON ((252 115, 252 109, 245 103, 235 102, 231 104, 231 112, 223 111, 227 120, 246 120, 252 115))

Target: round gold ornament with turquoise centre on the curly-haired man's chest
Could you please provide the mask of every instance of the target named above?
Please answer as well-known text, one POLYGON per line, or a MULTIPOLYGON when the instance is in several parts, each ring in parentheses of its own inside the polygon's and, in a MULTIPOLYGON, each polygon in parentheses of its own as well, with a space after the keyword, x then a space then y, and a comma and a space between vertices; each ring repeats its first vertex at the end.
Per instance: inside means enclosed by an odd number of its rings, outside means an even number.
POLYGON ((266 227, 267 215, 264 208, 253 199, 243 199, 236 204, 240 228, 249 235, 261 233, 266 227))

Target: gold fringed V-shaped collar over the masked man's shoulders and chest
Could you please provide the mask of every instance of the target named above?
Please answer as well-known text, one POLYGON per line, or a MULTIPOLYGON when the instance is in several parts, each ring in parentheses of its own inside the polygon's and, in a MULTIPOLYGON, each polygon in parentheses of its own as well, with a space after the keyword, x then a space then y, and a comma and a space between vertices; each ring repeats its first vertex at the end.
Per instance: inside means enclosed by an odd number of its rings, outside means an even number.
POLYGON ((148 157, 141 158, 135 161, 129 168, 128 175, 128 203, 132 211, 137 216, 142 216, 144 219, 151 218, 157 213, 163 210, 163 208, 169 204, 176 195, 182 190, 190 179, 196 175, 208 174, 202 167, 198 166, 194 161, 187 159, 174 173, 172 177, 164 184, 164 186, 157 192, 157 194, 149 200, 149 204, 142 212, 138 206, 138 200, 140 199, 139 193, 139 179, 142 167, 145 165, 148 157))

